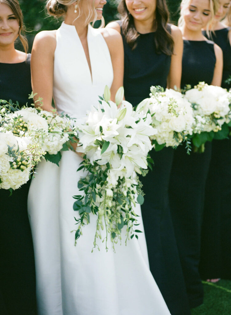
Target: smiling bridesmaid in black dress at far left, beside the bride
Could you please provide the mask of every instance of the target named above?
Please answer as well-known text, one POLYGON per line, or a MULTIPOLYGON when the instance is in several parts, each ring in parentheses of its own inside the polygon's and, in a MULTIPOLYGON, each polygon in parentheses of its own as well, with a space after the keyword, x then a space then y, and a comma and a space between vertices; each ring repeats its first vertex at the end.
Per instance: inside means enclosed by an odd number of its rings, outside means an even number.
MULTIPOLYGON (((0 99, 26 104, 31 93, 30 54, 22 36, 23 16, 17 0, 0 0, 0 99), (14 49, 19 37, 25 52, 14 49)), ((36 314, 35 267, 27 216, 29 183, 13 191, 0 189, 0 313, 36 314)))

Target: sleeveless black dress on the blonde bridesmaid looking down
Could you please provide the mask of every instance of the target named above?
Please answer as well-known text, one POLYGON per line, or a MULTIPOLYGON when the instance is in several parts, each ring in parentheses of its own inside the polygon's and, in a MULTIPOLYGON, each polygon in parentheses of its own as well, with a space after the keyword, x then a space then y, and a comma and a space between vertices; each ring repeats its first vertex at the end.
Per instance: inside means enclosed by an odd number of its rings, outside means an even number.
MULTIPOLYGON (((181 87, 199 81, 211 84, 216 56, 211 41, 184 40, 181 87)), ((190 307, 203 303, 199 275, 200 236, 204 207, 205 181, 211 158, 211 143, 204 153, 186 154, 184 145, 174 152, 169 198, 190 307)))

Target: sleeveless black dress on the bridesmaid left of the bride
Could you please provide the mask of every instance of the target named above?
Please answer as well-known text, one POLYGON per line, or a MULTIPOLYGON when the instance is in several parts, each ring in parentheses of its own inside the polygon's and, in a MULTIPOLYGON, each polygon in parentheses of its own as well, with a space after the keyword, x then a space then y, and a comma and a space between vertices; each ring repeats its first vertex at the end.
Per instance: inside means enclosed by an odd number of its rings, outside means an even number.
MULTIPOLYGON (((17 64, 0 63, 0 99, 26 104, 32 92, 30 57, 17 64)), ((1 105, 1 104, 0 104, 1 105)), ((27 215, 30 183, 0 189, 0 313, 36 314, 35 266, 27 215)))

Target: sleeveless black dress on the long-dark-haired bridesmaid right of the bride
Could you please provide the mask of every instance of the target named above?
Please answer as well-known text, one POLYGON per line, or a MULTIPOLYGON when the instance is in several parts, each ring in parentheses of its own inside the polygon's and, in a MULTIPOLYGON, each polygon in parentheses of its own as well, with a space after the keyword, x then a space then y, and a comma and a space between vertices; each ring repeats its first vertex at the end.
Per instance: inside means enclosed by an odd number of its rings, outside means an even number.
MULTIPOLYGON (((121 25, 121 23, 119 23, 121 25)), ((121 31, 122 34, 122 31, 121 31)), ((124 35, 124 95, 136 106, 149 97, 150 87, 167 86, 171 56, 157 54, 154 33, 140 34, 134 50, 124 35)), ((188 315, 188 299, 180 265, 169 209, 168 184, 173 149, 150 152, 153 171, 140 178, 145 193, 141 206, 147 241, 150 270, 162 293, 171 315, 188 315)))

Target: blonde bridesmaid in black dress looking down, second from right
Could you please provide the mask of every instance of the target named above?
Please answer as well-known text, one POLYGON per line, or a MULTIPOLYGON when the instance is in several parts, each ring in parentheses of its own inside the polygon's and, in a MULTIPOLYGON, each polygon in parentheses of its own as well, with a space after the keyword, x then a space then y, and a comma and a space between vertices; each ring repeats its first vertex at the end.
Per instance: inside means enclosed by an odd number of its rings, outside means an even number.
MULTIPOLYGON (((222 50, 202 34, 202 28, 211 22, 215 5, 212 0, 182 0, 178 22, 184 40, 182 89, 186 84, 193 87, 199 81, 221 85, 222 50)), ((210 142, 201 154, 187 155, 184 146, 179 146, 174 153, 170 177, 170 209, 191 308, 203 302, 198 266, 210 158, 210 142)))

